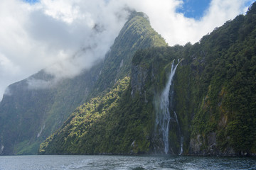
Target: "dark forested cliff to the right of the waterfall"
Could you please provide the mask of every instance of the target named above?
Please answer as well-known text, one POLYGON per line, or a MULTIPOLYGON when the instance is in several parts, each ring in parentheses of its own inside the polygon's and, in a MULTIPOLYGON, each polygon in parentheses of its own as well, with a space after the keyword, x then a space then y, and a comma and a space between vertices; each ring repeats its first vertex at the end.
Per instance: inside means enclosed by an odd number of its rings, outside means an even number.
POLYGON ((176 108, 193 118, 189 154, 255 154, 255 6, 186 45, 176 108))

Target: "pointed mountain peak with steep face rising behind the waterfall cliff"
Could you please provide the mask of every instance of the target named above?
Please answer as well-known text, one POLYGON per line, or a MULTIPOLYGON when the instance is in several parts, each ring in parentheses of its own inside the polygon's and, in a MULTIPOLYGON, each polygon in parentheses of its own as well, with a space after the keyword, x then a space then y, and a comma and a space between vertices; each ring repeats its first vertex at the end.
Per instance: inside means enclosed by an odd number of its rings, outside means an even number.
POLYGON ((105 57, 93 94, 112 88, 117 80, 129 76, 132 57, 137 50, 162 46, 167 44, 151 28, 147 16, 144 13, 132 12, 105 57))

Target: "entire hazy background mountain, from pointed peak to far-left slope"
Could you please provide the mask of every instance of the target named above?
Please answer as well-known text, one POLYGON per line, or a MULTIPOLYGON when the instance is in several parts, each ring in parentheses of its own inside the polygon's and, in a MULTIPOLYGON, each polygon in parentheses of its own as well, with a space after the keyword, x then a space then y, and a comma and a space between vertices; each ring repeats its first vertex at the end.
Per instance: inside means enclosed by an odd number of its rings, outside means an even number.
POLYGON ((39 145, 90 98, 104 95, 131 73, 139 49, 167 46, 144 13, 131 12, 104 61, 52 84, 44 70, 8 87, 0 103, 0 154, 36 154, 39 145), (42 84, 47 85, 42 86, 42 84))

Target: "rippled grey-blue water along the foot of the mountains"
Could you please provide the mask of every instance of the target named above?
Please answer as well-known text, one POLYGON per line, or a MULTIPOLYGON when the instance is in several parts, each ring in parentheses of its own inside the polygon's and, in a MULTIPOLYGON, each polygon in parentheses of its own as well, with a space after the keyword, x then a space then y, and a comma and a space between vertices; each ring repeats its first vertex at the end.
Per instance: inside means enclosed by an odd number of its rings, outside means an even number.
POLYGON ((3 156, 0 157, 0 169, 256 169, 256 158, 184 156, 3 156))

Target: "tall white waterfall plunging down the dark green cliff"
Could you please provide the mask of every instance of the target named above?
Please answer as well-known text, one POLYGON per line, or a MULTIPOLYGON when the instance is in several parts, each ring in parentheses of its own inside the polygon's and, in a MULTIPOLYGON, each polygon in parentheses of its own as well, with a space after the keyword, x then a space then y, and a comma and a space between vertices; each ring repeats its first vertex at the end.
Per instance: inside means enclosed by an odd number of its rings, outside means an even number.
MULTIPOLYGON (((159 101, 157 101, 158 104, 156 106, 157 108, 156 125, 159 127, 159 132, 161 133, 162 140, 164 142, 165 154, 168 154, 169 152, 169 123, 171 119, 174 119, 174 118, 171 118, 171 114, 170 114, 170 108, 173 109, 172 98, 174 96, 174 91, 171 90, 171 85, 173 83, 174 74, 176 72, 176 68, 178 67, 179 60, 178 60, 178 64, 174 64, 174 62, 172 62, 171 64, 171 73, 169 75, 169 79, 166 83, 164 91, 162 91, 161 93, 159 101)), ((175 112, 174 112, 174 116, 175 116, 176 123, 178 125, 179 134, 181 136, 181 129, 179 127, 178 118, 175 112)), ((180 154, 182 154, 183 152, 182 146, 183 146, 183 137, 181 136, 180 154)))

